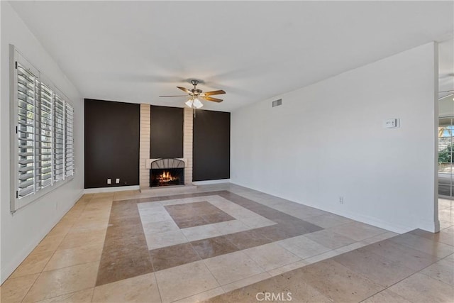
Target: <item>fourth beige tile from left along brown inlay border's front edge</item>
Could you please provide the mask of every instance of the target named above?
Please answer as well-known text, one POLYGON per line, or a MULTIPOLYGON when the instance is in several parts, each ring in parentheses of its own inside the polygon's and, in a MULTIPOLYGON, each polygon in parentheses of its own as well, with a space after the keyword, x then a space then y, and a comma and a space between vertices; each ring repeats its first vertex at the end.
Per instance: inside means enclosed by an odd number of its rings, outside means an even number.
POLYGON ((243 253, 253 259, 264 270, 280 268, 284 265, 301 260, 297 255, 282 248, 276 243, 269 243, 243 250, 243 253))

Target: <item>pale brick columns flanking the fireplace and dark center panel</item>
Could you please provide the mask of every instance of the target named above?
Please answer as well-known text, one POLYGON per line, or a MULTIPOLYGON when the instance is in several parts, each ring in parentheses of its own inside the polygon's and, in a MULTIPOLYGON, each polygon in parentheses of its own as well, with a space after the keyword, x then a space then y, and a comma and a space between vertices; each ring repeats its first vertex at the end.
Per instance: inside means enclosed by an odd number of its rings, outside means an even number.
MULTIPOLYGON (((140 155, 139 185, 141 189, 150 188, 150 104, 140 104, 140 155)), ((184 108, 183 158, 184 184, 192 185, 192 109, 184 108)))

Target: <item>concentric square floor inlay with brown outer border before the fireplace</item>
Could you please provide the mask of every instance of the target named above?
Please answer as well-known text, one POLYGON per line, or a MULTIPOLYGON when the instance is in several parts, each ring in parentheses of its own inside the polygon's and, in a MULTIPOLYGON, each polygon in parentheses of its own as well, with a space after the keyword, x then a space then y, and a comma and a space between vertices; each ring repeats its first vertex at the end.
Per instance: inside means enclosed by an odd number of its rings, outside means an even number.
MULTIPOLYGON (((252 248, 321 230, 232 192, 114 201, 96 286, 240 250, 247 257, 247 249, 253 255, 252 248)), ((251 275, 301 260, 277 244, 273 247, 272 264, 262 252, 267 246, 251 257, 261 268, 251 275)))

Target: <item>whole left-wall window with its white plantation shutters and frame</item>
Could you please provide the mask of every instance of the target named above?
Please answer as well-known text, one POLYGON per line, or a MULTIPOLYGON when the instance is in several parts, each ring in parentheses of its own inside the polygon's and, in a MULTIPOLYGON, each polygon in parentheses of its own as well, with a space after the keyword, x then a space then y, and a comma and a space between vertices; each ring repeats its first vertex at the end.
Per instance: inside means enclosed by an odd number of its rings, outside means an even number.
POLYGON ((74 109, 11 45, 11 211, 74 176, 74 109))

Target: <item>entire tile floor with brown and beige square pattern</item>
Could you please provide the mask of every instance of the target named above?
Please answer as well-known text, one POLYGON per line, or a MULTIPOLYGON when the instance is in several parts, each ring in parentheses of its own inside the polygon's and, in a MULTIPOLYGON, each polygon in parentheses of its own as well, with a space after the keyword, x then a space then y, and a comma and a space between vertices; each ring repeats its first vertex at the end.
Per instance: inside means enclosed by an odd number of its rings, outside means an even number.
POLYGON ((453 202, 439 208, 440 233, 397 235, 233 184, 86 194, 1 302, 454 302, 453 202))

